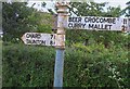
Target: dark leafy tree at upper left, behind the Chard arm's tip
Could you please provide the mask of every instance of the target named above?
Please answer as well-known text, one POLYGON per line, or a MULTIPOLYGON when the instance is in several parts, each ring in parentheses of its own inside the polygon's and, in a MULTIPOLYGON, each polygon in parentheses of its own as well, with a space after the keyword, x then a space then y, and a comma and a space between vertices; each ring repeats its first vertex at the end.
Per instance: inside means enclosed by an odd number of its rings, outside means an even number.
POLYGON ((35 9, 26 7, 27 2, 4 2, 2 5, 4 41, 14 41, 24 33, 36 29, 40 16, 35 9))

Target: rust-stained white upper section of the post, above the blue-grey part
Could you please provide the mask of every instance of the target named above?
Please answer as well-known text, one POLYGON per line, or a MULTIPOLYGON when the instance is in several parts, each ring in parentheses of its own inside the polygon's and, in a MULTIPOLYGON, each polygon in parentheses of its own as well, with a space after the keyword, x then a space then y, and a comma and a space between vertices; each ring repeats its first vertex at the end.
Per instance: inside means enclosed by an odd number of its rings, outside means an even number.
POLYGON ((66 22, 67 15, 67 3, 61 2, 57 7, 57 40, 60 41, 56 46, 57 49, 65 49, 65 29, 64 23, 66 22))

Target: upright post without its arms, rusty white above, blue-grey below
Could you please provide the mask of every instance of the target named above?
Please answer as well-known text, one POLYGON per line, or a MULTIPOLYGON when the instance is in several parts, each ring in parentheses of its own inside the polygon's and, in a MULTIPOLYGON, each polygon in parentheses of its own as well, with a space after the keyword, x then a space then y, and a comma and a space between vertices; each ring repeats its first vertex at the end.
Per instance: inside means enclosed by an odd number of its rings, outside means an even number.
POLYGON ((65 29, 64 23, 67 14, 67 4, 57 2, 57 33, 56 33, 56 56, 54 67, 54 88, 63 87, 64 51, 65 51, 65 29))

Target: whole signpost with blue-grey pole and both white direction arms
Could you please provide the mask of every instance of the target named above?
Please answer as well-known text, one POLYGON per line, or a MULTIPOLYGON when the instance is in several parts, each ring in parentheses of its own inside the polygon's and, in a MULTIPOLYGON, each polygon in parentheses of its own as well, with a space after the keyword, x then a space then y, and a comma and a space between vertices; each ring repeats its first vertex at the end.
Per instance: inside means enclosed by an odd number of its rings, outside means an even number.
POLYGON ((56 48, 54 67, 54 87, 63 87, 63 69, 65 53, 65 28, 89 30, 128 30, 130 18, 100 17, 100 16, 67 16, 67 2, 57 2, 56 34, 26 33, 22 40, 25 44, 53 46, 56 48))

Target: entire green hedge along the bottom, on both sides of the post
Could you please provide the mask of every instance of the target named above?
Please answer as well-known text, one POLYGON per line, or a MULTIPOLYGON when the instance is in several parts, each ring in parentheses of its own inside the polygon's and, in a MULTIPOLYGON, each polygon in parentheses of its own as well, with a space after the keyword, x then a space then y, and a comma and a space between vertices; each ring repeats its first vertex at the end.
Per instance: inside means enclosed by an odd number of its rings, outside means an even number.
MULTIPOLYGON (((55 49, 3 44, 3 87, 53 87, 55 49)), ((129 88, 128 50, 104 44, 66 47, 64 87, 129 88)))

